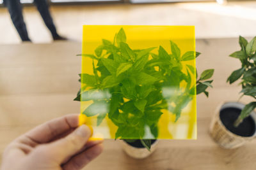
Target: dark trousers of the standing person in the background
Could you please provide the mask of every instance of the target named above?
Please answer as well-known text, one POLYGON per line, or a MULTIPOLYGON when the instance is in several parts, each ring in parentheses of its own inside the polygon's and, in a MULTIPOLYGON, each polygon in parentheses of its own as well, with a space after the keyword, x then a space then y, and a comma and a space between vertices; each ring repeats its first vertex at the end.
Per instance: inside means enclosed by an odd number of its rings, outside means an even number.
MULTIPOLYGON (((58 37, 56 27, 53 24, 51 13, 49 11, 47 0, 34 0, 34 4, 36 5, 37 10, 40 12, 45 25, 51 31, 52 37, 58 37)), ((20 4, 20 0, 4 0, 4 5, 8 8, 13 25, 17 29, 22 41, 30 41, 22 15, 22 5, 20 4)))

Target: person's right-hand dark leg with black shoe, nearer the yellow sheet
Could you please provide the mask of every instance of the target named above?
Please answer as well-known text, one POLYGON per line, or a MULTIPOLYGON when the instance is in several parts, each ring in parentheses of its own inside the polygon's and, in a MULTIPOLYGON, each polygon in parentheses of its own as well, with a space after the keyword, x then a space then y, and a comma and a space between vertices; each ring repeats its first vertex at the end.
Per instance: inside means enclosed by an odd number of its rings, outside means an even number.
POLYGON ((53 39, 65 39, 62 38, 56 31, 56 27, 53 23, 51 13, 49 11, 49 6, 47 4, 47 0, 34 0, 37 10, 39 11, 40 15, 42 16, 45 25, 51 31, 53 39))

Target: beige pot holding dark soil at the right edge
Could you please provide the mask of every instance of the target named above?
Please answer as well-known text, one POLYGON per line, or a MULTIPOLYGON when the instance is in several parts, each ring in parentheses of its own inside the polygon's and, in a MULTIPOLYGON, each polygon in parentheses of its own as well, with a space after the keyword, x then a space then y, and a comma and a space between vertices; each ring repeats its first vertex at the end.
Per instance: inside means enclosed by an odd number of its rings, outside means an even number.
MULTIPOLYGON (((230 132, 225 127, 225 125, 223 125, 223 123, 220 120, 220 111, 225 108, 237 108, 239 110, 243 110, 244 104, 237 103, 237 102, 229 102, 229 103, 221 104, 217 108, 216 113, 214 114, 214 117, 211 120, 211 125, 209 129, 212 139, 216 143, 218 143, 218 145, 227 149, 237 148, 239 146, 244 145, 244 143, 246 143, 247 141, 254 139, 256 136, 256 133, 254 133, 250 137, 243 137, 230 132)), ((255 111, 252 111, 250 116, 253 118, 254 122, 256 122, 255 111)))

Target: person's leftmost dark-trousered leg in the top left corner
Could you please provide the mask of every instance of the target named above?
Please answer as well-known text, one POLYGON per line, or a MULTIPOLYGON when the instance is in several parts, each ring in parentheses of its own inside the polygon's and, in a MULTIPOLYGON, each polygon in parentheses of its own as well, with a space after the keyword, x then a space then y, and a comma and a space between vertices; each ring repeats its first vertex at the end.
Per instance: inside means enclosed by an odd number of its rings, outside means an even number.
POLYGON ((13 25, 20 35, 22 41, 31 41, 22 15, 22 5, 20 0, 4 0, 4 5, 8 8, 13 25))

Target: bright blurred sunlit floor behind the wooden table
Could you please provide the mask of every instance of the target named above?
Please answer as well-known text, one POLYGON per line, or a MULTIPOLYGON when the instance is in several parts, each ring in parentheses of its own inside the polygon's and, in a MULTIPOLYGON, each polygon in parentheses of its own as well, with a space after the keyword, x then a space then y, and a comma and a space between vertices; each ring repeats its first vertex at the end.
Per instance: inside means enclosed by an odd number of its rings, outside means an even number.
MULTIPOLYGON (((51 6, 61 34, 81 41, 84 24, 195 25, 196 38, 256 35, 256 1, 176 4, 97 4, 51 6)), ((34 43, 51 42, 51 35, 34 6, 24 8, 29 36, 34 43)), ((19 43, 6 8, 0 8, 0 43, 19 43)))

